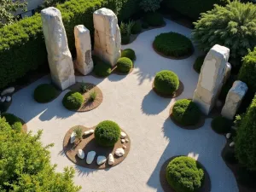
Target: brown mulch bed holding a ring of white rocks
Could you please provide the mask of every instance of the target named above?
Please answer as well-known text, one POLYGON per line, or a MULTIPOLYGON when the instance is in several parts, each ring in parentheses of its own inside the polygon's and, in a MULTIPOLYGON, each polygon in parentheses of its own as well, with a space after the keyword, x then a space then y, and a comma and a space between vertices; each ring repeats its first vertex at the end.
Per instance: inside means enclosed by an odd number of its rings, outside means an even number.
POLYGON ((71 160, 74 164, 76 164, 78 166, 90 168, 90 169, 107 169, 107 168, 119 165, 119 163, 121 163, 123 160, 125 160, 126 156, 129 154, 129 151, 131 148, 131 139, 128 136, 128 134, 122 129, 121 129, 121 131, 123 131, 127 134, 127 136, 125 138, 127 138, 129 140, 128 143, 121 143, 121 139, 119 139, 119 141, 117 143, 115 143, 114 147, 104 148, 104 147, 101 147, 96 144, 94 134, 91 134, 89 136, 84 136, 83 140, 80 143, 71 144, 70 136, 71 136, 73 130, 78 126, 80 126, 83 129, 83 132, 96 128, 96 126, 87 128, 87 127, 84 127, 83 125, 77 125, 77 126, 72 127, 69 131, 67 131, 67 133, 64 137, 64 140, 63 140, 63 151, 66 154, 67 159, 71 160), (126 146, 126 148, 124 149, 125 155, 122 157, 118 157, 117 155, 114 154, 114 152, 117 148, 122 148, 123 145, 126 146), (84 150, 85 156, 84 156, 83 160, 81 160, 77 156, 79 148, 84 150), (90 151, 96 151, 96 156, 95 156, 95 159, 93 160, 93 162, 89 165, 86 163, 86 155, 90 151), (108 165, 108 154, 113 154, 114 164, 112 166, 108 165), (107 158, 106 163, 102 164, 101 166, 98 166, 96 163, 97 156, 99 156, 99 155, 103 155, 107 158))

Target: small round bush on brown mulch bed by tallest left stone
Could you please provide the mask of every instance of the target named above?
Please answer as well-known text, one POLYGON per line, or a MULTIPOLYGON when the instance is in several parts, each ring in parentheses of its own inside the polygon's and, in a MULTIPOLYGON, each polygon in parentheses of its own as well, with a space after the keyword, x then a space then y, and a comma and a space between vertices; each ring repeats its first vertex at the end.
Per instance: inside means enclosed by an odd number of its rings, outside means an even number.
POLYGON ((69 91, 63 98, 62 104, 70 110, 79 109, 84 102, 84 97, 75 91, 69 91))

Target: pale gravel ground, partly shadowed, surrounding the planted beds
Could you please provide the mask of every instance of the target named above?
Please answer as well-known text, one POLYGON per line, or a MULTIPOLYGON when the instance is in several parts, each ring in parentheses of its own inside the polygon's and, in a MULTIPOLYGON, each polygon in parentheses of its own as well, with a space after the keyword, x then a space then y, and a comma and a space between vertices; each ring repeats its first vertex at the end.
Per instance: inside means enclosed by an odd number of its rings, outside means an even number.
POLYGON ((225 138, 212 131, 212 119, 207 119, 201 129, 188 131, 174 125, 168 117, 173 102, 193 96, 198 80, 193 63, 200 54, 195 50, 188 59, 170 60, 154 53, 154 37, 171 31, 187 37, 191 33, 188 28, 166 20, 165 27, 143 32, 135 42, 122 47, 134 49, 137 54, 135 69, 128 76, 77 77, 77 81, 96 84, 102 90, 102 104, 90 112, 67 111, 61 104, 67 90, 53 102, 34 102, 33 90, 38 84, 49 82, 49 77, 15 93, 9 113, 24 119, 29 131, 44 130, 42 143, 55 143, 50 152, 52 163, 57 164, 56 170, 61 172, 65 166, 73 166, 76 169, 74 182, 83 187, 81 191, 161 192, 160 167, 173 155, 181 154, 194 156, 207 168, 212 192, 238 191, 235 177, 221 158, 225 138), (183 94, 176 99, 161 98, 151 90, 155 73, 164 69, 177 73, 184 84, 183 94), (74 125, 91 127, 106 119, 117 122, 131 137, 127 158, 119 166, 103 171, 73 165, 62 152, 66 132, 74 125))

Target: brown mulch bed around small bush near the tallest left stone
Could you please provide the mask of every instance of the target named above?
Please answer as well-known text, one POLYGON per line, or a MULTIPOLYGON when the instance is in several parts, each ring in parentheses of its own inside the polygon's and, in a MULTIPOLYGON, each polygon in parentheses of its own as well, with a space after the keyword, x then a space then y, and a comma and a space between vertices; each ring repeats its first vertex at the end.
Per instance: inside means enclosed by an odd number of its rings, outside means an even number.
POLYGON ((67 109, 67 110, 75 111, 75 112, 87 112, 87 111, 90 111, 92 109, 99 107, 102 104, 102 101, 103 101, 102 90, 100 90, 100 88, 98 88, 96 86, 96 84, 77 82, 76 84, 73 84, 72 86, 70 86, 68 88, 68 90, 80 92, 81 84, 86 84, 87 86, 90 87, 90 90, 87 90, 83 94, 81 93, 82 96, 84 97, 84 102, 83 102, 82 106, 77 110, 70 110, 70 109, 67 109), (93 91, 93 90, 96 91, 97 96, 96 96, 96 100, 94 102, 90 102, 90 101, 88 101, 89 96, 90 96, 89 93, 90 93, 90 91, 93 91))

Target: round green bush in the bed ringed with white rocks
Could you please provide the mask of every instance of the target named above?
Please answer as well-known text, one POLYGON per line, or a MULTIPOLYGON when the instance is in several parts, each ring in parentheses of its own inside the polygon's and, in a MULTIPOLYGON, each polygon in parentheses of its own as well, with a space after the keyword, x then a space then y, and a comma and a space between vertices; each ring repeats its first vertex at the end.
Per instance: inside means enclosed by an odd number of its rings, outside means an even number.
POLYGON ((118 124, 111 120, 105 120, 96 125, 94 134, 96 143, 102 147, 113 147, 119 141, 120 133, 118 124))

